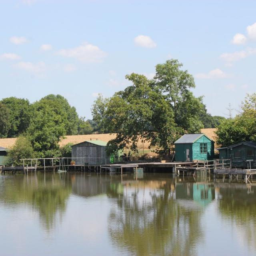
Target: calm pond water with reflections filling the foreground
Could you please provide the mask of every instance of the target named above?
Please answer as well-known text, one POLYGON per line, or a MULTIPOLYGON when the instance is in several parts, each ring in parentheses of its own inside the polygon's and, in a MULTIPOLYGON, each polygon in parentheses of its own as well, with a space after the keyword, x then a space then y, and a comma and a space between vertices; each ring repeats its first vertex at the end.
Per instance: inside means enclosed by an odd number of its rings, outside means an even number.
POLYGON ((4 256, 256 255, 256 183, 171 174, 0 176, 4 256))

